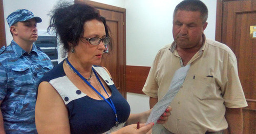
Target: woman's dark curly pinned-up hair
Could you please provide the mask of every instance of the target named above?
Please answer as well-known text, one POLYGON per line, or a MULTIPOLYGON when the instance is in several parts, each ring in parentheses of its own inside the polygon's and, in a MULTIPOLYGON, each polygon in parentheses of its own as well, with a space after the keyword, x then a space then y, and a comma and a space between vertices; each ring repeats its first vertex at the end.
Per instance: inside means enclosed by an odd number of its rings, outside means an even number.
MULTIPOLYGON (((92 19, 102 21, 106 37, 111 39, 105 18, 100 16, 99 11, 90 5, 62 1, 51 11, 50 16, 50 26, 47 28, 47 32, 49 33, 51 29, 54 30, 66 51, 70 50, 69 43, 72 43, 72 47, 77 46, 79 39, 83 36, 84 23, 92 19)), ((109 45, 111 48, 112 39, 109 45)))

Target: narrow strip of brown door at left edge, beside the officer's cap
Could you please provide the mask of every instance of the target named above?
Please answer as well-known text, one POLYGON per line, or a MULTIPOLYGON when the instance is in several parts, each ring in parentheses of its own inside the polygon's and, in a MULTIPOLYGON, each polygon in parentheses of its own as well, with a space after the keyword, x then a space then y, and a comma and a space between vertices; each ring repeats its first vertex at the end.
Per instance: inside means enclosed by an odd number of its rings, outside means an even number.
POLYGON ((0 0, 0 29, 0 48, 2 48, 3 46, 6 46, 3 0, 0 0))

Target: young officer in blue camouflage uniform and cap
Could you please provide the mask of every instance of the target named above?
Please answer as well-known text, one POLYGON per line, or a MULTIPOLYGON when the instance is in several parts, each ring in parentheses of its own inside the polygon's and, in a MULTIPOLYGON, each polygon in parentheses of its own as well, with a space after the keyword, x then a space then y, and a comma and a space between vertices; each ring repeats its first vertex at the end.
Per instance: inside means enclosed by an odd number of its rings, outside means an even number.
POLYGON ((50 58, 34 44, 41 21, 26 9, 7 17, 13 40, 0 49, 0 133, 37 133, 37 84, 53 68, 50 58))

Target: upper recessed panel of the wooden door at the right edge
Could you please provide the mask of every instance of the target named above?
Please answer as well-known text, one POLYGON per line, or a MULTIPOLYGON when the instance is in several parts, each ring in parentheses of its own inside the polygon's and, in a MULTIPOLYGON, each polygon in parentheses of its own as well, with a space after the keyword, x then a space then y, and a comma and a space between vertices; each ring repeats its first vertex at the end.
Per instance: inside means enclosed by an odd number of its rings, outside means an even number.
POLYGON ((234 38, 234 53, 238 60, 239 77, 243 86, 245 97, 247 99, 256 99, 255 94, 255 57, 256 57, 256 38, 250 39, 250 26, 256 27, 256 11, 251 12, 237 12, 236 20, 237 26, 235 29, 234 38), (253 18, 250 19, 250 18, 253 18), (246 22, 246 23, 241 23, 246 22), (254 66, 254 68, 253 68, 254 66), (254 93, 254 94, 253 94, 254 93))

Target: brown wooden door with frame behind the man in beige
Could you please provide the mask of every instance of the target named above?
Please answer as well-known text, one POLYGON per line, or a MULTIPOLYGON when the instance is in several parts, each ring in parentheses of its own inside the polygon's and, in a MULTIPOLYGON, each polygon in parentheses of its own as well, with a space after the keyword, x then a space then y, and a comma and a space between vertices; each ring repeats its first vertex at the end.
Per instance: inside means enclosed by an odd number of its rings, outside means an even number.
POLYGON ((243 108, 244 133, 256 133, 256 1, 217 1, 216 40, 227 44, 238 60, 239 78, 248 106, 243 108))

